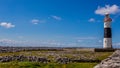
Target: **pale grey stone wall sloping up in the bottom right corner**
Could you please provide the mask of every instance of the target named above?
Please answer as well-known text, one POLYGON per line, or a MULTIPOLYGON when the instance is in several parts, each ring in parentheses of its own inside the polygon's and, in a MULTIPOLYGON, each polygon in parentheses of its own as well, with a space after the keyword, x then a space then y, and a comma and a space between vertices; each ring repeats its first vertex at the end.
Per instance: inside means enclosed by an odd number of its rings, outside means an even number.
POLYGON ((115 51, 107 59, 101 61, 94 68, 120 68, 120 50, 115 51))

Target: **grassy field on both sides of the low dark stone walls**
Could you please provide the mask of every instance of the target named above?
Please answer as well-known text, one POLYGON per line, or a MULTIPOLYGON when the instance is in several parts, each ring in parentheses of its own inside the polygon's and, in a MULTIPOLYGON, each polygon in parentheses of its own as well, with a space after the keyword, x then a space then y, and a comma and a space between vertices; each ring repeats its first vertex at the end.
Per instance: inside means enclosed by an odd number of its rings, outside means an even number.
POLYGON ((58 56, 68 58, 84 58, 84 59, 99 59, 103 60, 110 56, 113 52, 92 52, 92 51, 22 51, 14 53, 0 53, 0 56, 11 55, 25 55, 25 56, 38 56, 46 57, 53 62, 44 64, 39 62, 4 62, 0 63, 0 68, 93 68, 98 63, 68 63, 58 64, 54 62, 54 59, 58 56))

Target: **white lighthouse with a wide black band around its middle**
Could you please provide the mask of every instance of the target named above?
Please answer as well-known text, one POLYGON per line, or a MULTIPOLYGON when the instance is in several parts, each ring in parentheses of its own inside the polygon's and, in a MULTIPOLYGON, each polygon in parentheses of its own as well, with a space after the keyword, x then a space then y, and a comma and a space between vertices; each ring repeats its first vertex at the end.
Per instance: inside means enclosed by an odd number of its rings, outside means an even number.
POLYGON ((103 39, 103 48, 112 48, 112 31, 111 31, 111 22, 110 14, 106 13, 104 18, 104 39, 103 39))

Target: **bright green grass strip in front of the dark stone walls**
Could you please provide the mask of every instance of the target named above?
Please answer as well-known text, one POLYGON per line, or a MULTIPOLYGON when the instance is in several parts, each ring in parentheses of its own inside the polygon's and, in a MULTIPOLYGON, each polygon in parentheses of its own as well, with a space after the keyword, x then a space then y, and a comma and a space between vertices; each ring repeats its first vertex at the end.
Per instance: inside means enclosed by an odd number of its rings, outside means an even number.
POLYGON ((0 63, 0 68, 93 68, 97 63, 37 63, 37 62, 6 62, 0 63))

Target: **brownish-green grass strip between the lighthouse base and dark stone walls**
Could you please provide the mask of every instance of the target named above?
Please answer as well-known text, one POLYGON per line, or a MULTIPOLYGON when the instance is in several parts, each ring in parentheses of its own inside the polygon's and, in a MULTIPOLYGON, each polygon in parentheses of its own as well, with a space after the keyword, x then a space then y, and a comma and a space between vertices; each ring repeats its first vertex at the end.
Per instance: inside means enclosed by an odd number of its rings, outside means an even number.
POLYGON ((92 52, 92 51, 22 51, 14 53, 0 53, 0 56, 24 55, 24 56, 38 56, 45 57, 54 62, 58 57, 67 58, 84 58, 84 59, 99 59, 103 60, 111 55, 113 52, 92 52))

